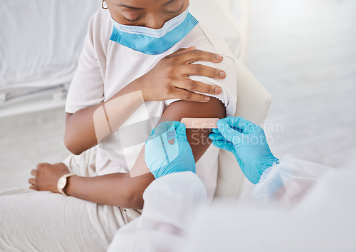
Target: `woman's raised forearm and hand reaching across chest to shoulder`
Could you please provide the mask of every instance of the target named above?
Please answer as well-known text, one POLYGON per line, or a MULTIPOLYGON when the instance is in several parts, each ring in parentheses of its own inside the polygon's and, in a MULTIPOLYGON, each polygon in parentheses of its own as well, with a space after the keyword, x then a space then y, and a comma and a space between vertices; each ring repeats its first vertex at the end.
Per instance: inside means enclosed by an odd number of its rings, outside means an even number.
POLYGON ((182 99, 206 103, 210 99, 209 96, 194 91, 220 94, 221 87, 192 81, 188 76, 200 75, 225 79, 226 73, 209 66, 190 63, 199 60, 219 63, 222 57, 218 56, 196 50, 194 46, 189 49, 179 49, 165 56, 147 74, 132 81, 108 101, 80 109, 75 114, 67 113, 64 136, 66 147, 75 155, 92 148, 119 128, 144 101, 182 99), (110 131, 108 131, 108 124, 110 131))

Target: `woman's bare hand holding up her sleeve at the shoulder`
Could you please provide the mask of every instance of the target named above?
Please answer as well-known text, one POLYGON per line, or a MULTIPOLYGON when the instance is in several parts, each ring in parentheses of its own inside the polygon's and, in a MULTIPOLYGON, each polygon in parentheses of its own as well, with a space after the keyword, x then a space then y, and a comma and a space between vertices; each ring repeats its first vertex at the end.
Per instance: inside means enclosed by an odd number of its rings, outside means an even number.
POLYGON ((161 59, 147 74, 140 77, 138 86, 145 101, 164 101, 167 99, 182 99, 186 101, 209 101, 210 97, 196 94, 197 91, 206 94, 221 94, 219 86, 204 84, 189 79, 189 76, 206 76, 214 79, 225 79, 226 73, 201 64, 191 64, 196 61, 220 63, 222 56, 207 51, 196 50, 194 46, 179 49, 161 59))

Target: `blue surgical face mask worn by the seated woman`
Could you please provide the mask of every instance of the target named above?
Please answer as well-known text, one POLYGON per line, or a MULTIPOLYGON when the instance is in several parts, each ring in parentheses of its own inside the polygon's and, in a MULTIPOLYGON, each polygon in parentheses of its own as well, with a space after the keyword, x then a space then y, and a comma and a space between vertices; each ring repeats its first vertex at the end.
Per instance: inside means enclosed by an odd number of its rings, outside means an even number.
POLYGON ((164 53, 198 24, 197 19, 189 13, 188 8, 182 14, 167 21, 161 29, 127 26, 119 24, 113 19, 112 21, 114 27, 110 40, 150 55, 164 53))

